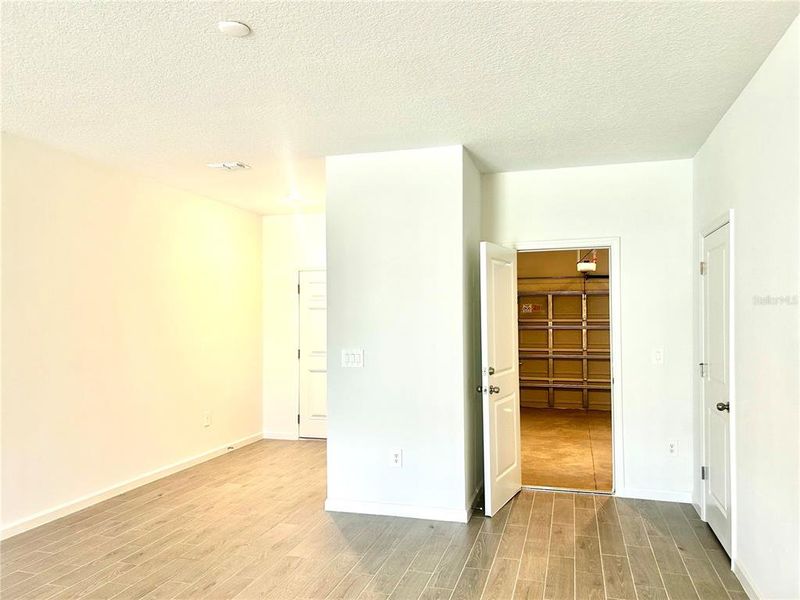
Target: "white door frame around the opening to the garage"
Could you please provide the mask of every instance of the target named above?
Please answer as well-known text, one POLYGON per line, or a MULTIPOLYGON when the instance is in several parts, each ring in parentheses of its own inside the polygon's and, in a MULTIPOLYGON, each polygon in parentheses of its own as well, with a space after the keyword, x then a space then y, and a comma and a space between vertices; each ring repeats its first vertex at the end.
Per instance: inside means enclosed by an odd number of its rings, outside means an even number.
MULTIPOLYGON (((581 250, 608 248, 608 274, 611 304, 611 445, 614 460, 611 465, 611 493, 622 495, 625 490, 625 461, 622 448, 622 327, 620 305, 620 239, 618 237, 541 240, 535 242, 505 242, 503 246, 518 251, 581 250)), ((529 486, 523 486, 529 487, 529 486)))

